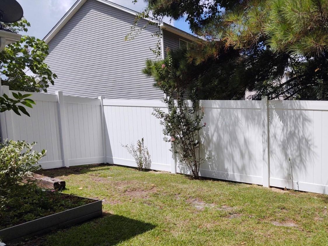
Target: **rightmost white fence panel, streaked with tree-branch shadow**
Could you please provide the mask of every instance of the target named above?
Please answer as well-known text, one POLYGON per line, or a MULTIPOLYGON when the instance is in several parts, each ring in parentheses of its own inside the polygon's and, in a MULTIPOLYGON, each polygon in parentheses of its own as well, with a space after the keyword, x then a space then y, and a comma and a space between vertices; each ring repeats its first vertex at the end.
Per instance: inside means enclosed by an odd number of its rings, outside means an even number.
POLYGON ((270 185, 328 193, 327 106, 270 101, 270 185))

